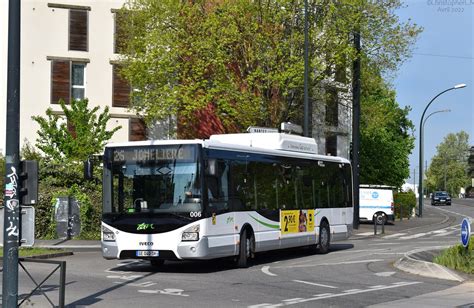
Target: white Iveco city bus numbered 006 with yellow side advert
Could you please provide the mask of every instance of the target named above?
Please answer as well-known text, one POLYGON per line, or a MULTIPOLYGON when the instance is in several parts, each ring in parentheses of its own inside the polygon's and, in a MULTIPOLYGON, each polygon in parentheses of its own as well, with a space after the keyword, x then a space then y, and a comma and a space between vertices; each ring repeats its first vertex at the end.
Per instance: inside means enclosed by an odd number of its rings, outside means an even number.
POLYGON ((351 165, 284 133, 109 144, 104 152, 106 259, 206 260, 313 246, 352 232, 351 165))

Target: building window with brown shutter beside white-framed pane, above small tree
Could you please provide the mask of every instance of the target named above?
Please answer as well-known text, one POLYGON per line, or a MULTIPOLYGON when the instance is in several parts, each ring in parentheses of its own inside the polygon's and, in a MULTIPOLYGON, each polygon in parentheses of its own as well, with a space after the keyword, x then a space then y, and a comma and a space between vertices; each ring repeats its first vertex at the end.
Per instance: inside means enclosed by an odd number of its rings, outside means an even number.
POLYGON ((72 60, 51 61, 51 103, 62 99, 69 104, 71 99, 84 99, 86 91, 86 63, 72 60))

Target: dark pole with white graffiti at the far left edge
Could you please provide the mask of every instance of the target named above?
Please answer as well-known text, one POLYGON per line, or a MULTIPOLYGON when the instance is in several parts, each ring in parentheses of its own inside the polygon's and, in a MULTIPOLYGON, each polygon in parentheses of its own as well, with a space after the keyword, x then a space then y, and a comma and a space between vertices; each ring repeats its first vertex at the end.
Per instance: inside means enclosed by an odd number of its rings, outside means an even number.
POLYGON ((2 307, 18 305, 20 239, 20 0, 8 5, 7 123, 3 221, 2 307))

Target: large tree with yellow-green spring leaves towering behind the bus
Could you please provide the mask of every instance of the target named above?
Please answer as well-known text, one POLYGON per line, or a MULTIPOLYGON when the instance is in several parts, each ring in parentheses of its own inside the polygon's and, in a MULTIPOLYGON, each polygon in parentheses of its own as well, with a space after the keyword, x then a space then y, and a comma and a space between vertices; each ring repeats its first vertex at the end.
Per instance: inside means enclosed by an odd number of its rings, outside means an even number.
MULTIPOLYGON (((348 70, 354 30, 380 72, 409 55, 420 31, 399 22, 398 0, 309 2, 310 88, 348 70)), ((147 122, 178 115, 179 137, 207 137, 302 118, 303 1, 130 0, 119 14, 122 73, 147 122)))

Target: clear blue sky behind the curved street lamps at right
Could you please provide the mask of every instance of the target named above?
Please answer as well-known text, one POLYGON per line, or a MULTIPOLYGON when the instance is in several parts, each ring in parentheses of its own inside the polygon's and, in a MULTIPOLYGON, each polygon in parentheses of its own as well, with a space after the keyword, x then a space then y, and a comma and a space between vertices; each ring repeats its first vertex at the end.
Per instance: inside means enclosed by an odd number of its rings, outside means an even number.
POLYGON ((464 89, 438 97, 425 118, 433 111, 450 109, 429 118, 424 130, 424 160, 431 162, 436 146, 449 133, 466 131, 474 146, 474 0, 405 0, 396 12, 401 20, 411 18, 424 28, 413 56, 398 70, 392 81, 401 106, 410 106, 409 118, 415 124, 415 149, 410 155, 410 179, 416 168, 418 183, 419 125, 422 112, 439 92, 456 84, 464 89))

